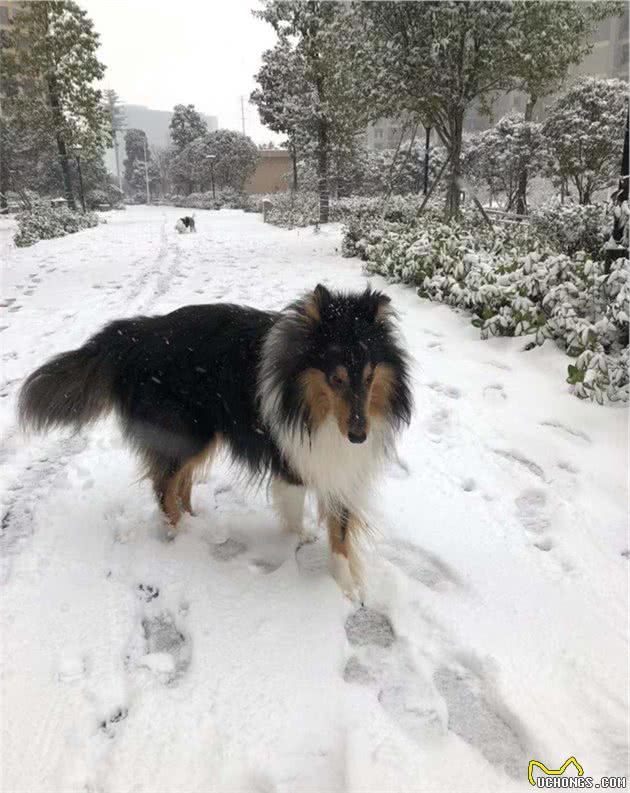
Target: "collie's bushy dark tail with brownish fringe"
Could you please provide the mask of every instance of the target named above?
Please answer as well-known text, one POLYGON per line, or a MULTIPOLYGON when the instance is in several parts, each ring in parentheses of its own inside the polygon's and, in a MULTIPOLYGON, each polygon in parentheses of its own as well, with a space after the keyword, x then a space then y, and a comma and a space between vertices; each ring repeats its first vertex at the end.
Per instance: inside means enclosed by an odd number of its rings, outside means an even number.
POLYGON ((113 370, 96 338, 36 369, 20 391, 18 415, 25 429, 78 430, 113 405, 113 370))

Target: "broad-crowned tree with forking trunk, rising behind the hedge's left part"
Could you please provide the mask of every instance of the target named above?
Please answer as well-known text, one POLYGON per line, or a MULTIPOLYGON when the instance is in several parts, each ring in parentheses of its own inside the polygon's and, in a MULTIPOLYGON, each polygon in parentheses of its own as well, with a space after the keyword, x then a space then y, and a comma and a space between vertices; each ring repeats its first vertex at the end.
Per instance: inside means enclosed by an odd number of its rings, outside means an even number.
POLYGON ((447 148, 449 216, 459 212, 464 117, 512 84, 524 46, 511 2, 355 3, 348 42, 364 101, 375 115, 407 115, 435 128, 447 148))

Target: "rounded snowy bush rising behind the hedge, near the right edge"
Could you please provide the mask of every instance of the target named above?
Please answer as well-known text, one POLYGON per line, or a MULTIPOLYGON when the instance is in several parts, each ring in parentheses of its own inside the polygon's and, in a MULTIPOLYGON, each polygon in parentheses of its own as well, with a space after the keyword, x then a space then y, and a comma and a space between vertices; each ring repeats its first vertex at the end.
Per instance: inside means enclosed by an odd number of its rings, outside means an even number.
POLYGON ((602 259, 613 216, 609 204, 547 203, 530 212, 530 222, 541 239, 557 251, 573 256, 585 251, 602 259))

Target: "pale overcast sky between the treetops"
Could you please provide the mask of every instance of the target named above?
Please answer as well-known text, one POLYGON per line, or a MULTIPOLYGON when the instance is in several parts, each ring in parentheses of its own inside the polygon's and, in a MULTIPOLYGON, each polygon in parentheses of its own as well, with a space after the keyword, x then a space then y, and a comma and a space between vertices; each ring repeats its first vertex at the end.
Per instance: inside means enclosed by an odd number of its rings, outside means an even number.
POLYGON ((129 104, 172 110, 194 104, 256 143, 279 141, 248 103, 260 56, 274 45, 270 25, 254 19, 257 0, 79 0, 101 35, 103 88, 129 104))

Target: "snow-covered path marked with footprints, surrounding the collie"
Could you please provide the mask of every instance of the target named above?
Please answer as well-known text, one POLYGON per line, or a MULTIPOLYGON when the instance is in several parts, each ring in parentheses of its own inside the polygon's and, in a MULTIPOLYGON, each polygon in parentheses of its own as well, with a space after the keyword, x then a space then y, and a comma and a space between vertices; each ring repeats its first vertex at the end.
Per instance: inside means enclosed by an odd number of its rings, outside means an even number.
POLYGON ((166 543, 113 422, 20 435, 24 375, 108 320, 366 283, 336 227, 197 212, 178 236, 179 214, 132 208, 23 250, 0 229, 2 790, 488 793, 570 756, 625 774, 627 415, 570 396, 553 345, 480 341, 374 279, 416 414, 363 608, 323 536, 296 553, 225 466, 166 543))

